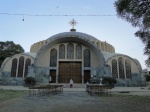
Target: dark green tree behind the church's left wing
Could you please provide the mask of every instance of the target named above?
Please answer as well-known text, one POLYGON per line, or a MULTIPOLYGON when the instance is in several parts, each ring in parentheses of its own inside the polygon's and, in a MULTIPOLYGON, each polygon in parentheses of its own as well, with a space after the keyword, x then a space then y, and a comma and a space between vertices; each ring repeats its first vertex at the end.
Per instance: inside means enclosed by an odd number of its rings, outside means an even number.
POLYGON ((24 49, 13 41, 0 42, 0 66, 6 57, 24 52, 24 49))

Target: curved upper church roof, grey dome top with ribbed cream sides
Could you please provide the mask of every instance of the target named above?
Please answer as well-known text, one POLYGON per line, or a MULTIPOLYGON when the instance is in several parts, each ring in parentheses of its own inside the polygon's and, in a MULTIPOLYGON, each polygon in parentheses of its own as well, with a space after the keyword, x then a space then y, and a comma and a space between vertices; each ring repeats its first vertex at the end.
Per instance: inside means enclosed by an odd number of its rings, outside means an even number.
POLYGON ((82 32, 62 32, 62 33, 52 35, 51 37, 47 38, 46 40, 39 41, 37 43, 32 44, 30 47, 30 51, 38 52, 38 50, 40 50, 42 48, 42 46, 44 46, 45 44, 49 43, 49 41, 55 40, 55 38, 58 38, 61 36, 62 37, 66 37, 66 36, 72 37, 72 35, 75 37, 84 37, 85 40, 89 40, 89 41, 93 42, 96 46, 99 47, 99 49, 102 49, 104 51, 115 52, 114 46, 111 45, 110 43, 99 40, 98 38, 96 38, 92 35, 82 33, 82 32))

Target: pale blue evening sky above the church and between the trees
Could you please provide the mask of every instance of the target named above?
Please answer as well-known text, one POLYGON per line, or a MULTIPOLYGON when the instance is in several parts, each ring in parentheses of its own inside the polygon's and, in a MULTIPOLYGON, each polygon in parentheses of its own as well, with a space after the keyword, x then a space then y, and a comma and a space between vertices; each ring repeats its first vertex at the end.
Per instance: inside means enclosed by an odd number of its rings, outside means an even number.
POLYGON ((0 41, 13 41, 29 52, 33 43, 68 32, 68 22, 74 18, 78 32, 108 42, 116 53, 139 60, 144 69, 147 57, 144 45, 134 36, 137 28, 116 16, 114 1, 0 0, 0 41))

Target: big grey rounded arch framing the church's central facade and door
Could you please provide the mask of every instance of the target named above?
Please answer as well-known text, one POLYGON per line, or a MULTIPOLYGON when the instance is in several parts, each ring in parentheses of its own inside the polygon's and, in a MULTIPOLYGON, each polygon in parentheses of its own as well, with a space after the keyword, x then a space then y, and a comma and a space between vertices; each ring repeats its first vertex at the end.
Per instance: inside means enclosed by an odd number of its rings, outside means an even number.
POLYGON ((63 43, 63 42, 76 42, 76 43, 79 43, 79 44, 82 44, 84 46, 91 48, 92 51, 98 57, 101 67, 105 66, 106 64, 105 64, 104 56, 101 53, 101 50, 90 41, 92 39, 94 40, 96 38, 90 35, 84 34, 84 33, 79 33, 79 32, 65 32, 65 33, 54 35, 50 37, 49 39, 47 39, 48 43, 46 43, 38 51, 36 58, 34 60, 34 65, 39 66, 39 59, 42 56, 42 54, 45 52, 45 50, 54 46, 55 44, 63 43))

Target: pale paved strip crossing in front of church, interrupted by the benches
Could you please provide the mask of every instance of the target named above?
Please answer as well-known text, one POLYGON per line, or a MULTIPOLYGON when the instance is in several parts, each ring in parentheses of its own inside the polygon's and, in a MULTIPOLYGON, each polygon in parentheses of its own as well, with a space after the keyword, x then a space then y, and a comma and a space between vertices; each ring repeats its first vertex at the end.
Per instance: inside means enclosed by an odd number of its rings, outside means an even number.
MULTIPOLYGON (((23 86, 0 86, 0 89, 9 90, 29 90, 28 87, 23 86)), ((64 88, 63 91, 68 92, 85 92, 85 88, 64 88)), ((112 94, 129 94, 129 95, 140 95, 150 96, 149 87, 115 87, 112 90, 112 94)))

